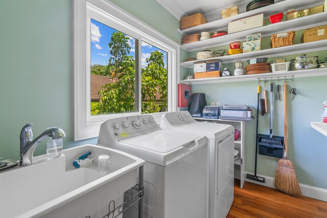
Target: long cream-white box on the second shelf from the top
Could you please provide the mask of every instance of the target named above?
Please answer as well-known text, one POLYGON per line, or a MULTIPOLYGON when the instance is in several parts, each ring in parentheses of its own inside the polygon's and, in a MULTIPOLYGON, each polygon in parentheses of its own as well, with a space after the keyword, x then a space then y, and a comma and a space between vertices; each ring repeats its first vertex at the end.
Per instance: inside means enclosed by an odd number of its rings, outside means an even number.
POLYGON ((228 34, 263 26, 264 14, 258 14, 228 23, 228 34))

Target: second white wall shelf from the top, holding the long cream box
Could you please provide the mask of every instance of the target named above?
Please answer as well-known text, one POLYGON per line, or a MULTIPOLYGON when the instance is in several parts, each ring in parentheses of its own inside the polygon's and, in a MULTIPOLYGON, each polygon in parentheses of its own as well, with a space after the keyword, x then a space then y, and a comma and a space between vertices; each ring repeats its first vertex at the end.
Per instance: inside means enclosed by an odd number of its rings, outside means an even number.
POLYGON ((313 14, 306 17, 273 23, 264 27, 227 34, 211 39, 183 44, 182 48, 188 52, 229 44, 232 41, 245 41, 247 35, 261 33, 262 37, 271 36, 274 33, 297 31, 327 24, 327 12, 313 14))

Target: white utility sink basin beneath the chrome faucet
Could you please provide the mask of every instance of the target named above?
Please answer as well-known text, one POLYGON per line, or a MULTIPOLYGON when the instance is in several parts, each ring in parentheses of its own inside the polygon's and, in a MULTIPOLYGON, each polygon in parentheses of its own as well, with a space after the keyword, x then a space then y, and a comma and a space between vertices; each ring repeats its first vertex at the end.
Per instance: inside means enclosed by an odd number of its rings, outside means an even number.
POLYGON ((103 217, 108 204, 123 203, 124 191, 136 184, 136 172, 145 161, 107 147, 85 144, 55 159, 34 157, 29 166, 0 172, 2 217, 103 217), (90 151, 92 165, 75 168, 73 161, 90 151), (98 156, 110 155, 112 173, 98 173, 98 156))

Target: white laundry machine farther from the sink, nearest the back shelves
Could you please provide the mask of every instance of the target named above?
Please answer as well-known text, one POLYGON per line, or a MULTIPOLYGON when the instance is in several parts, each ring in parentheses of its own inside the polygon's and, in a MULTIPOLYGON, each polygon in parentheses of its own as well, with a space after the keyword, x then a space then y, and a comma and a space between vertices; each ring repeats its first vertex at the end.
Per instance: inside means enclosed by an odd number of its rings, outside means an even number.
POLYGON ((188 111, 162 115, 160 127, 208 138, 209 218, 226 217, 234 199, 234 128, 197 122, 188 111))

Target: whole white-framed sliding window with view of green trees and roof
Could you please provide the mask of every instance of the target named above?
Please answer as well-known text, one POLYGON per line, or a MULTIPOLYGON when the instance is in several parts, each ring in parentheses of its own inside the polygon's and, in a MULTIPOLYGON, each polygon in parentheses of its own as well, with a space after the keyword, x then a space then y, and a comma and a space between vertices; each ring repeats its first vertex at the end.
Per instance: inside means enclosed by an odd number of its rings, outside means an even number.
POLYGON ((108 118, 175 111, 179 45, 107 1, 74 4, 75 140, 108 118))

